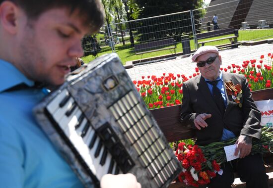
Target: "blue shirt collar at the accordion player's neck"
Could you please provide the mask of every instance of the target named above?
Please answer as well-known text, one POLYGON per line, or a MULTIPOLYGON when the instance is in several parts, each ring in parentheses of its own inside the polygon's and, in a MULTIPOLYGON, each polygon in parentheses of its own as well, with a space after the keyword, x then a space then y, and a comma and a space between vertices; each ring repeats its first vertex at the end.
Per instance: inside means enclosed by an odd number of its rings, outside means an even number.
POLYGON ((19 84, 26 84, 29 87, 34 86, 34 81, 29 80, 11 63, 0 59, 0 65, 0 80, 2 81, 0 93, 19 84))

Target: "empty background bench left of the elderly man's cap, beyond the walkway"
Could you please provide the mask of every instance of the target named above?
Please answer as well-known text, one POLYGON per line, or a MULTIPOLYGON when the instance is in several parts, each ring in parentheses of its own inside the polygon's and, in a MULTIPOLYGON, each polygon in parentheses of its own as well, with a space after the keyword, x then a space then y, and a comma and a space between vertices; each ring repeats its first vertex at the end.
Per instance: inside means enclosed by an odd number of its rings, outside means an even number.
POLYGON ((154 51, 175 49, 175 48, 176 48, 176 41, 173 38, 170 38, 170 39, 164 39, 160 41, 136 44, 135 52, 136 52, 136 55, 141 54, 141 58, 142 58, 143 53, 150 53, 154 51), (170 47, 172 45, 174 46, 170 47))

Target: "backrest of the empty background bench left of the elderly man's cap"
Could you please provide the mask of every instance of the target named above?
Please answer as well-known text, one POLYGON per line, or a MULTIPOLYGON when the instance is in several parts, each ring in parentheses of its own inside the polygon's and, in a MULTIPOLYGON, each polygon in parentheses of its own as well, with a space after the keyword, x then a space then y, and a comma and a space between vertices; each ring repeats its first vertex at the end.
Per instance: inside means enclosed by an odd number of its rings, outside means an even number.
POLYGON ((170 38, 170 39, 164 39, 164 40, 160 40, 160 41, 153 41, 153 42, 149 42, 149 43, 136 44, 135 50, 136 50, 136 52, 149 51, 152 49, 168 47, 170 45, 175 45, 175 44, 176 44, 176 42, 174 41, 174 39, 170 38))

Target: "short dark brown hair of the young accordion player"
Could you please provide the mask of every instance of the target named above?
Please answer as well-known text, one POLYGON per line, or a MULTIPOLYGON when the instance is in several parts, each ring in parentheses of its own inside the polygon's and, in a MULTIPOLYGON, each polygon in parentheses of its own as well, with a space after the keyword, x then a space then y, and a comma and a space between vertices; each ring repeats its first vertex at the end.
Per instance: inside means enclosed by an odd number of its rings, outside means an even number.
MULTIPOLYGON (((0 0, 0 4, 5 0, 0 0)), ((67 7, 70 13, 79 10, 80 17, 95 33, 103 24, 104 15, 100 0, 8 0, 22 8, 30 20, 37 19, 52 8, 67 7)))

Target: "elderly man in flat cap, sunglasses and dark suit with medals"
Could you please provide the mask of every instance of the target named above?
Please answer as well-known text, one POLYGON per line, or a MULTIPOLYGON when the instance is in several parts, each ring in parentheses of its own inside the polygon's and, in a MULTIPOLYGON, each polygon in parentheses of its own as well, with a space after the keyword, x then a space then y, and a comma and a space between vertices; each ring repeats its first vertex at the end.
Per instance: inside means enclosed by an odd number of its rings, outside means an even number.
POLYGON ((222 165, 223 174, 211 179, 209 188, 230 188, 237 170, 247 188, 268 188, 262 157, 249 155, 252 140, 261 138, 261 113, 243 75, 220 71, 216 47, 200 47, 192 57, 201 76, 183 84, 182 125, 195 129, 197 144, 205 145, 239 136, 235 155, 240 158, 222 165))

